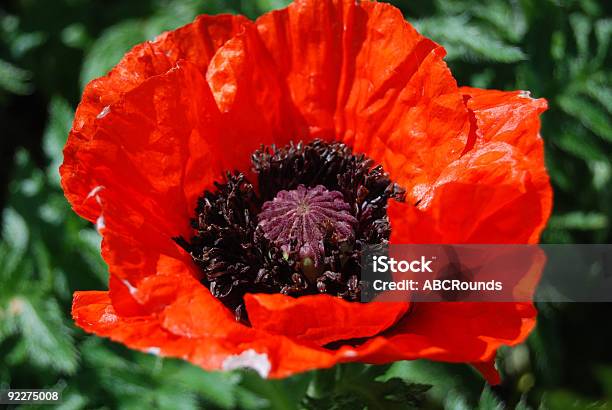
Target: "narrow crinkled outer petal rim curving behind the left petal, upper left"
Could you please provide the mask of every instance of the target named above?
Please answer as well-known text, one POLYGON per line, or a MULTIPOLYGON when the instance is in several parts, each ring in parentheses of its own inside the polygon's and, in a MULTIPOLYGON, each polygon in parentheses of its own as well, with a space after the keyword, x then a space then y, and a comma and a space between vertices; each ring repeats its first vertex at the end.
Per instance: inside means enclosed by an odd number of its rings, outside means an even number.
POLYGON ((73 127, 64 149, 61 167, 62 187, 76 212, 94 222, 99 215, 99 204, 88 199, 99 184, 89 169, 83 168, 75 156, 93 138, 98 117, 121 96, 142 84, 146 79, 163 74, 181 59, 196 64, 204 73, 216 50, 248 20, 242 16, 200 16, 193 23, 165 33, 154 42, 134 47, 106 76, 90 82, 83 92, 73 127))

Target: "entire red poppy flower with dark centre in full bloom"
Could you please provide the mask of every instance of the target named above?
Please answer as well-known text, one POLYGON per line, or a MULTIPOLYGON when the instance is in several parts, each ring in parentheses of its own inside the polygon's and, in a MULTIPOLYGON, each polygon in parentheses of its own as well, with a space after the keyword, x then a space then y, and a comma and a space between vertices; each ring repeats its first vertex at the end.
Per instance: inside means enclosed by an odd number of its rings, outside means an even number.
POLYGON ((459 88, 444 55, 397 9, 354 0, 298 0, 255 22, 201 16, 134 47, 87 85, 64 151, 64 192, 97 223, 110 271, 109 291, 76 292, 77 325, 210 370, 278 378, 427 358, 472 363, 496 382, 495 352, 526 338, 531 304, 364 304, 351 301, 354 275, 317 270, 330 229, 336 242, 383 241, 389 226, 395 243, 538 241, 551 209, 546 102, 459 88), (332 169, 328 157, 349 167, 325 177, 336 185, 301 180, 302 166, 332 169), (359 201, 370 216, 355 213, 359 201), (296 226, 311 228, 282 231, 296 226), (226 251, 230 231, 244 254, 226 251), (278 242, 285 234, 294 241, 278 242), (302 269, 293 282, 261 262, 274 252, 282 269, 302 269), (264 267, 243 282, 248 258, 264 267))

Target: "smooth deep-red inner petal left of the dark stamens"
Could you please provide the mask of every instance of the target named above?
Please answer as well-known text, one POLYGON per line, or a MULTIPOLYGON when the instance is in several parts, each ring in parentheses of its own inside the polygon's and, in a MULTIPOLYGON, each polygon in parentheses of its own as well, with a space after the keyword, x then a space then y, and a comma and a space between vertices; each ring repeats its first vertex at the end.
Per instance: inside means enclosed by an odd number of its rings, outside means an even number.
POLYGON ((90 196, 103 256, 131 285, 155 274, 161 255, 189 259, 172 238, 191 233, 197 197, 220 178, 218 115, 204 77, 184 62, 125 93, 80 144, 74 160, 98 186, 90 196))

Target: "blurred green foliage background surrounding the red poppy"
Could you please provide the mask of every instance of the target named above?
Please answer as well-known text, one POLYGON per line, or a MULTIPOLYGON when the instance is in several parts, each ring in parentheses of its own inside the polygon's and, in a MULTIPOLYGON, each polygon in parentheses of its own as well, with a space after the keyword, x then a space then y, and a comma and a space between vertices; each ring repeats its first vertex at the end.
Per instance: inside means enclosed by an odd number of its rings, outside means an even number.
MULTIPOLYGON (((492 389, 466 365, 427 361, 341 366, 274 382, 249 372, 206 373, 72 325, 72 292, 105 289, 107 282, 97 232, 70 210, 59 188, 62 148, 84 84, 132 45, 199 13, 254 18, 286 3, 0 2, 0 388, 63 388, 63 409, 353 409, 357 403, 386 409, 408 408, 400 403, 414 397, 428 408, 612 408, 608 304, 540 304, 528 342, 500 353, 504 383, 492 389), (433 387, 423 392, 418 383, 433 387)), ((543 240, 611 242, 612 2, 395 4, 446 47, 459 84, 530 90, 549 101, 542 134, 555 209, 543 240)))

